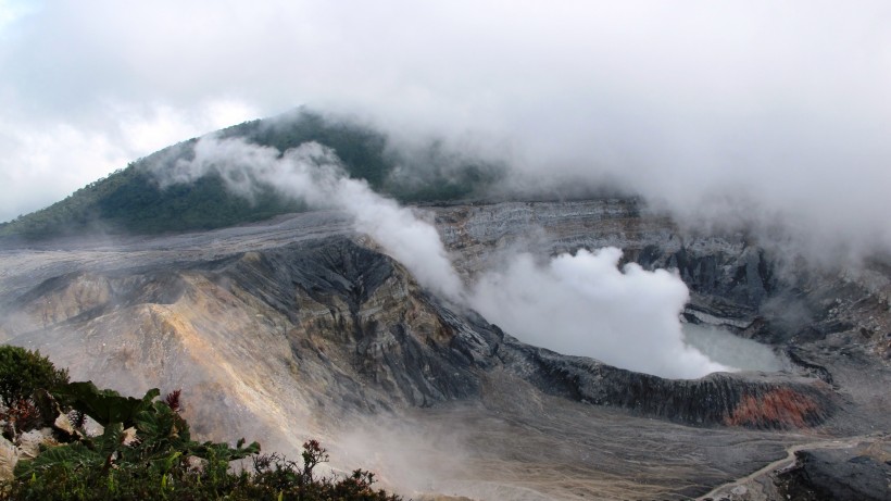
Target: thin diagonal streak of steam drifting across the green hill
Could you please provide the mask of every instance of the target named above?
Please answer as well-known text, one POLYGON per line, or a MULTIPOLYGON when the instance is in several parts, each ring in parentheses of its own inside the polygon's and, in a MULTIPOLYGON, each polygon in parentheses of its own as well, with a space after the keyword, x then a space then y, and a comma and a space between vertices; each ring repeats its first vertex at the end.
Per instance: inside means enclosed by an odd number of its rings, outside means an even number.
POLYGON ((194 158, 178 161, 162 184, 191 183, 209 172, 218 173, 230 190, 249 199, 269 186, 310 205, 348 212, 359 231, 374 238, 422 284, 459 298, 461 279, 436 228, 375 193, 364 180, 347 177, 329 148, 308 142, 281 154, 242 139, 205 137, 196 145, 194 158))

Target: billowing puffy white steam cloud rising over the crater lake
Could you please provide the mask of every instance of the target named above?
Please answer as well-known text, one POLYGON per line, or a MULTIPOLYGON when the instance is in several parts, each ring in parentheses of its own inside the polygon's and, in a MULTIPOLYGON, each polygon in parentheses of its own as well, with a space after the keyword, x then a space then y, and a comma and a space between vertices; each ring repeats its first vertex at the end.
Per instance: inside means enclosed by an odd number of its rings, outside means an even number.
POLYGON ((687 286, 665 270, 619 271, 619 249, 579 250, 547 265, 519 254, 477 283, 470 302, 520 340, 663 377, 694 378, 730 367, 685 343, 678 315, 687 286))

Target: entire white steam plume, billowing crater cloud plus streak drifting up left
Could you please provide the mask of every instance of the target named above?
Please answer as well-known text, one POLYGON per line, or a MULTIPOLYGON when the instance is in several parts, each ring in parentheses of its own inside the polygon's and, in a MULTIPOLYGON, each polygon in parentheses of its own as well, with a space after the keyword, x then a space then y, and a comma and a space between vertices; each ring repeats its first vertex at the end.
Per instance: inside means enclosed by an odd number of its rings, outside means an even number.
POLYGON ((266 186, 316 208, 348 212, 359 231, 374 238, 422 285, 476 309, 525 342, 664 377, 730 370, 685 342, 679 314, 689 292, 683 281, 633 263, 619 270, 619 249, 579 250, 547 265, 518 254, 504 271, 484 274, 467 291, 436 228, 375 193, 364 180, 348 177, 328 148, 310 142, 283 154, 242 139, 205 137, 191 161, 180 160, 158 174, 162 184, 171 184, 191 183, 210 172, 248 198, 266 186))

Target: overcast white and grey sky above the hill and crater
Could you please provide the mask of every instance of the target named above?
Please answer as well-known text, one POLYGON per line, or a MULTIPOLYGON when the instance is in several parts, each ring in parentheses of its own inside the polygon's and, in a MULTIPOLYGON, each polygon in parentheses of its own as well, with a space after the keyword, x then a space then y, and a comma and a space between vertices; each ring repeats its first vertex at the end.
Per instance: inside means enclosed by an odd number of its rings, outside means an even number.
POLYGON ((884 1, 0 0, 0 221, 308 104, 891 245, 889 26, 884 1))

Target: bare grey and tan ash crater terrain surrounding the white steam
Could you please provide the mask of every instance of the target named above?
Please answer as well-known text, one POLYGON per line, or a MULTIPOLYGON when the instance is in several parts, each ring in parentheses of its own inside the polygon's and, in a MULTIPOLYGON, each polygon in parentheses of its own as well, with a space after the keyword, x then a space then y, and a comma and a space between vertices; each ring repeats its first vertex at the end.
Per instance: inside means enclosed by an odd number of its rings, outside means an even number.
POLYGON ((363 458, 344 430, 384 440, 388 423, 429 447, 411 460, 379 447, 385 479, 480 499, 683 499, 816 435, 891 427, 881 267, 793 268, 742 236, 683 235, 625 200, 430 209, 467 278, 519 243, 541 255, 620 247, 679 270, 689 321, 770 342, 794 370, 667 380, 526 346, 422 289, 332 213, 3 250, 0 334, 76 378, 184 388, 196 430, 217 439, 292 451, 321 436, 363 458), (423 480, 388 473, 392 454, 423 480))

